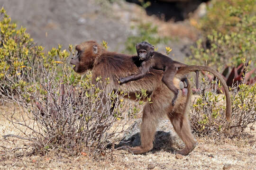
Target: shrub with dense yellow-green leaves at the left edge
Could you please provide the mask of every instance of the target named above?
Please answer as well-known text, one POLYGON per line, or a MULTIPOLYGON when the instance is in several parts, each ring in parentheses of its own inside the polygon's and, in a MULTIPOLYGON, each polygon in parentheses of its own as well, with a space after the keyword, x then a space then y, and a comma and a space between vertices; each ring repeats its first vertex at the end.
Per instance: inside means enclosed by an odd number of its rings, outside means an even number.
POLYGON ((17 29, 17 25, 11 23, 4 8, 0 15, 0 96, 1 100, 13 102, 11 98, 17 84, 26 82, 36 71, 35 64, 44 53, 43 47, 35 46, 26 28, 17 29))

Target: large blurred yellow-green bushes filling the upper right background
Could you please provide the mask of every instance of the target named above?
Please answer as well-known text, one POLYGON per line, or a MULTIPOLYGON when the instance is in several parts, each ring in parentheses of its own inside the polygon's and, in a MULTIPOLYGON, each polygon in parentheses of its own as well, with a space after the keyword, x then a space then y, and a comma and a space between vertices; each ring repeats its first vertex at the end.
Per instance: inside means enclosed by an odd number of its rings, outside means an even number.
POLYGON ((207 36, 192 47, 189 62, 220 69, 246 58, 256 66, 256 1, 214 0, 211 5, 201 21, 207 36))

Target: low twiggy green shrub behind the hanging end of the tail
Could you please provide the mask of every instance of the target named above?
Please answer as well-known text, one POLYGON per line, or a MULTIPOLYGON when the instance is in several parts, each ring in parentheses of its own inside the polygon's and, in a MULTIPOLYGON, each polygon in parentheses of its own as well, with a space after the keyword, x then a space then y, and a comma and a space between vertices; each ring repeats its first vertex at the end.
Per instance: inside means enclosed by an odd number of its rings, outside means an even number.
POLYGON ((202 78, 202 90, 192 103, 190 120, 198 136, 239 137, 247 126, 256 122, 256 85, 233 87, 231 91, 232 117, 225 119, 225 96, 218 94, 219 85, 202 78), (239 88, 239 90, 238 90, 239 88))

